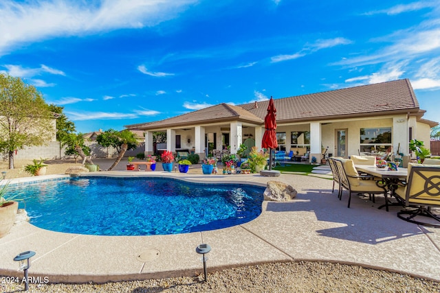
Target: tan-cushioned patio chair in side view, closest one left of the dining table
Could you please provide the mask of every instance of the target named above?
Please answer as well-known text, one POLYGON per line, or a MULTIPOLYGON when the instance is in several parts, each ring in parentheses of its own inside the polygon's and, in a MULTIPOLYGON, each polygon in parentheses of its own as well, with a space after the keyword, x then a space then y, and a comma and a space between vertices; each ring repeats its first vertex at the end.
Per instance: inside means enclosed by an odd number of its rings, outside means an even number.
MULTIPOLYGON (((355 164, 351 159, 335 159, 336 168, 338 169, 338 175, 340 177, 340 185, 342 189, 349 191, 349 204, 350 207, 351 194, 369 194, 370 198, 373 198, 375 194, 384 194, 386 211, 388 211, 388 198, 387 191, 384 187, 376 184, 375 180, 361 180, 364 178, 371 178, 373 176, 359 175, 356 170, 355 164)), ((340 200, 342 200, 342 191, 340 194, 340 200)))

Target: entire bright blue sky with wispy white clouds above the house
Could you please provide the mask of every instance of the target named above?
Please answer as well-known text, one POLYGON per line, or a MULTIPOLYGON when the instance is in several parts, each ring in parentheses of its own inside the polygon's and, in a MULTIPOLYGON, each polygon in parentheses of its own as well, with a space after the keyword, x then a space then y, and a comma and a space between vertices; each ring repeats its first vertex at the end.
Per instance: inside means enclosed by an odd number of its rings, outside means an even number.
POLYGON ((440 1, 0 2, 0 72, 78 132, 409 78, 440 121, 440 1))

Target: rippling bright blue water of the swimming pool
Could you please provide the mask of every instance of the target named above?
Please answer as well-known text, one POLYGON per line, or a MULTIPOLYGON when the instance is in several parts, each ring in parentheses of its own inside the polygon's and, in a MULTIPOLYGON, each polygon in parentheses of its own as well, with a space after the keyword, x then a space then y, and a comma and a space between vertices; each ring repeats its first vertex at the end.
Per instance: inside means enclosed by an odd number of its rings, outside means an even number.
POLYGON ((87 177, 13 187, 31 220, 87 235, 166 235, 243 224, 261 213, 263 187, 170 178, 87 177))

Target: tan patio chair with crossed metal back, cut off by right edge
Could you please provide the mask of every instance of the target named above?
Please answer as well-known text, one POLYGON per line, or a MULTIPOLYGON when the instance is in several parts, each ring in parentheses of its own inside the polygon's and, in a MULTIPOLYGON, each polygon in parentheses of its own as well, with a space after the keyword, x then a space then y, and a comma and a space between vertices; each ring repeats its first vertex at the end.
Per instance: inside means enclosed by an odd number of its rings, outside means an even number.
POLYGON ((440 222, 440 215, 432 212, 433 207, 440 207, 440 165, 409 163, 406 183, 395 190, 395 195, 405 202, 405 209, 399 211, 397 217, 414 224, 440 228, 440 223, 415 220, 422 215, 440 222))

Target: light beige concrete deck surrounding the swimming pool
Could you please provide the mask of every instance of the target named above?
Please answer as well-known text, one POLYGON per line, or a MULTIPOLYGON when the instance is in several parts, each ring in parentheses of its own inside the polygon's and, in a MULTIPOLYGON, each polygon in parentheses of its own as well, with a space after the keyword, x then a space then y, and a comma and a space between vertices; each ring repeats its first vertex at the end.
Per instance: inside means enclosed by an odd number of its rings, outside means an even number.
MULTIPOLYGON (((92 173, 93 174, 93 173, 92 173)), ((203 183, 252 183, 279 180, 292 185, 292 202, 263 202, 259 218, 230 228, 179 235, 93 236, 46 231, 28 222, 15 224, 0 239, 0 274, 22 277, 13 258, 34 250, 31 276, 50 283, 158 279, 203 273, 195 248, 212 247, 208 272, 274 261, 330 261, 357 264, 440 281, 440 229, 397 218, 376 203, 331 192, 333 181, 281 174, 201 175, 168 172, 96 172, 100 176, 170 176, 203 183)), ((63 176, 44 176, 60 178, 63 176)), ((21 178, 36 180, 36 178, 21 178)), ((87 203, 87 202, 85 202, 87 203)))

